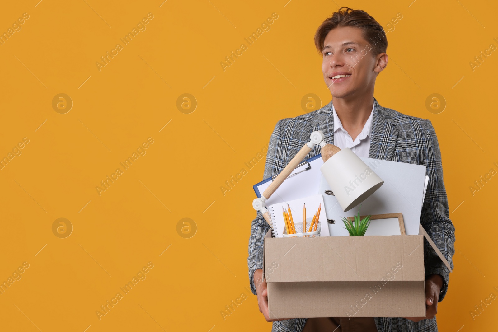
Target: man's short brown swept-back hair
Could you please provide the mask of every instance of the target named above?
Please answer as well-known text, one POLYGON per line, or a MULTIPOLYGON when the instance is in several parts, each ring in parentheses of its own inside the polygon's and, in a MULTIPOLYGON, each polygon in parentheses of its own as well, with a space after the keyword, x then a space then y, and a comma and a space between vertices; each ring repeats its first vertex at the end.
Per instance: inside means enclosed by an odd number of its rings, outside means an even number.
POLYGON ((335 28, 342 26, 351 26, 362 29, 363 38, 370 43, 373 56, 380 53, 385 53, 387 50, 387 37, 385 31, 380 24, 370 16, 366 11, 361 9, 351 9, 349 7, 341 7, 323 21, 315 33, 315 46, 323 56, 323 46, 327 34, 335 28))

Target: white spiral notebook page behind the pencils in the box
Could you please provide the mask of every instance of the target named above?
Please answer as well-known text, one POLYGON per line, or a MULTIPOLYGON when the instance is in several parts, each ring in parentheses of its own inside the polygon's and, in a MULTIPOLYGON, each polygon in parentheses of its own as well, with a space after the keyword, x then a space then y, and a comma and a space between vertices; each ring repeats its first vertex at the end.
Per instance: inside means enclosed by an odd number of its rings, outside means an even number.
POLYGON ((303 204, 306 204, 306 225, 309 227, 313 216, 315 215, 318 207, 322 204, 322 210, 318 221, 320 222, 320 236, 330 236, 329 227, 327 225, 327 216, 324 211, 323 196, 321 194, 300 198, 297 200, 287 201, 283 203, 275 203, 266 209, 270 213, 271 221, 273 223, 273 231, 275 237, 283 237, 285 229, 285 221, 283 220, 282 208, 287 209, 289 204, 294 223, 303 222, 303 204))

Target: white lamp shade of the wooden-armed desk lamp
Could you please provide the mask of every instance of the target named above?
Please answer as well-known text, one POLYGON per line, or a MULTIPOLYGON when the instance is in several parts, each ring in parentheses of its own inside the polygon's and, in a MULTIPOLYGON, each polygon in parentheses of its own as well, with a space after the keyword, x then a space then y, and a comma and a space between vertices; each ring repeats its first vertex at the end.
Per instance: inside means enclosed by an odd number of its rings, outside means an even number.
POLYGON ((350 148, 335 153, 320 171, 344 212, 365 201, 384 183, 350 148))

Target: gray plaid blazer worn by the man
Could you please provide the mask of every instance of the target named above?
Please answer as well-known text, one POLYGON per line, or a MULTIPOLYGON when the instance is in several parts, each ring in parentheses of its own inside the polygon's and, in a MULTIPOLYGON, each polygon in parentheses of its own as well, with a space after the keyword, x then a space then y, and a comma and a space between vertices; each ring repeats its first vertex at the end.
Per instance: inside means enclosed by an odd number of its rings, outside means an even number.
MULTIPOLYGON (((369 157, 403 163, 425 165, 429 175, 429 184, 424 199, 420 223, 429 233, 439 250, 446 257, 453 269, 452 257, 455 253, 455 227, 448 218, 448 199, 443 182, 441 152, 432 123, 402 114, 398 111, 381 107, 374 98, 372 137, 369 157)), ((296 117, 285 118, 276 123, 266 155, 263 179, 279 174, 287 163, 309 141, 312 131, 321 130, 325 141, 334 144, 334 116, 332 101, 317 111, 296 117)), ((317 144, 305 157, 320 154, 317 144)), ((256 269, 263 269, 263 237, 270 226, 258 212, 252 221, 249 237, 249 283, 254 295, 253 274, 256 269)), ((443 277, 441 302, 448 290, 449 270, 429 245, 424 241, 425 275, 433 273, 443 277)), ((306 318, 296 318, 273 322, 272 331, 300 332, 306 318)), ((374 318, 379 332, 434 332, 437 331, 436 318, 425 319, 418 323, 404 318, 374 318)))

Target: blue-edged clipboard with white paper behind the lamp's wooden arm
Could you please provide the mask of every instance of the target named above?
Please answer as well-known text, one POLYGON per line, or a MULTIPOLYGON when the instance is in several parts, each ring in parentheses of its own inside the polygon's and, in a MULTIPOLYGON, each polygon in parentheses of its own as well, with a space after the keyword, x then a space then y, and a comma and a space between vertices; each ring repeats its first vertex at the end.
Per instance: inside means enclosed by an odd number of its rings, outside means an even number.
MULTIPOLYGON (((317 154, 304 160, 278 187, 275 193, 265 202, 265 205, 270 206, 316 195, 319 192, 320 177, 322 175, 320 167, 322 165, 322 154, 317 154)), ((256 196, 261 197, 261 193, 268 188, 276 177, 275 175, 252 186, 256 196)))

